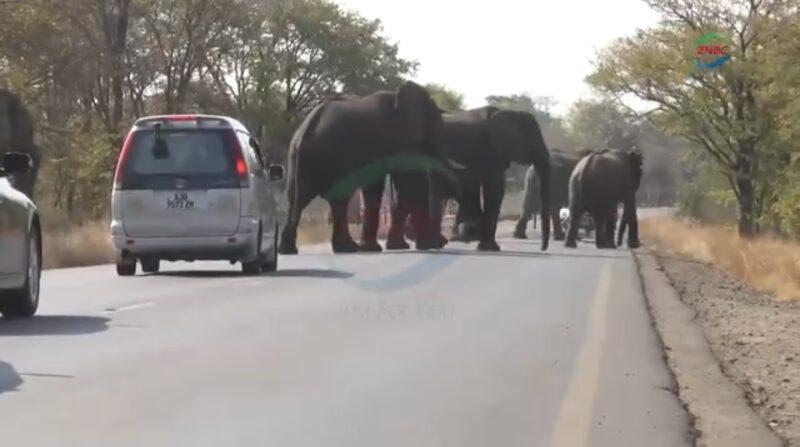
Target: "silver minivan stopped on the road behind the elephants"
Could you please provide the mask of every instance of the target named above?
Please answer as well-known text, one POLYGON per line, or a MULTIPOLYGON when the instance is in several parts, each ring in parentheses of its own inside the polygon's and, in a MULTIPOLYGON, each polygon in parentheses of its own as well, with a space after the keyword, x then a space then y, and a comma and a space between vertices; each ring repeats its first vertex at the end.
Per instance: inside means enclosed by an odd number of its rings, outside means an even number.
POLYGON ((141 118, 125 138, 111 194, 117 273, 160 261, 228 260, 257 274, 278 267, 283 166, 264 160, 238 121, 141 118))

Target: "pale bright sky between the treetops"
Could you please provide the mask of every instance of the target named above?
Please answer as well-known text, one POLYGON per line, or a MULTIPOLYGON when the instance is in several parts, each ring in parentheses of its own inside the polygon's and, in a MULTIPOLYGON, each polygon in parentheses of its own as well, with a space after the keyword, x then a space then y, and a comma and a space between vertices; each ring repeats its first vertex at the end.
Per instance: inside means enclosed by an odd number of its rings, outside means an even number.
POLYGON ((598 49, 658 16, 641 0, 336 0, 383 22, 400 55, 419 62, 417 81, 466 95, 552 96, 563 114, 591 95, 583 79, 598 49))

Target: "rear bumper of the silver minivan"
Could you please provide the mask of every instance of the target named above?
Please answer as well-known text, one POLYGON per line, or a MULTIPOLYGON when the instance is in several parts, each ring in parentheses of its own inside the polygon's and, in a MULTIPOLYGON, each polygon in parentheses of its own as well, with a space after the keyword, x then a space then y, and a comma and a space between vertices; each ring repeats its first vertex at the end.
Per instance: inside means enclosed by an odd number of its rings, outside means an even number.
POLYGON ((118 256, 150 256, 168 261, 252 261, 256 258, 258 221, 242 218, 239 230, 225 236, 130 237, 119 222, 111 224, 111 234, 118 256))

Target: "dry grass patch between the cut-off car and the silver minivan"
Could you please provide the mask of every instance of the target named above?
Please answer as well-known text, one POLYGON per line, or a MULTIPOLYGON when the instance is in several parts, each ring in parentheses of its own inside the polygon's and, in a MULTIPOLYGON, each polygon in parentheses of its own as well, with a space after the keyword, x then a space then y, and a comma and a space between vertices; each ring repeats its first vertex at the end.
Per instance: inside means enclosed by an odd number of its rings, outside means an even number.
POLYGON ((114 250, 105 221, 64 229, 45 229, 44 268, 79 267, 114 261, 114 250))

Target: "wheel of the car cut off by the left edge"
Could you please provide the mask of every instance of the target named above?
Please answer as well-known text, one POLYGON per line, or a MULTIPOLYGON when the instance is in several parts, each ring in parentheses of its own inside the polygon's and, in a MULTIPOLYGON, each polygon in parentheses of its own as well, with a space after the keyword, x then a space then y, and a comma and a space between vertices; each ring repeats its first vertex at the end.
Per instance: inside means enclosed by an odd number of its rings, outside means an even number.
POLYGON ((33 229, 28 240, 28 264, 25 285, 0 296, 0 314, 11 318, 28 318, 39 307, 39 284, 42 276, 42 248, 38 232, 33 229))

